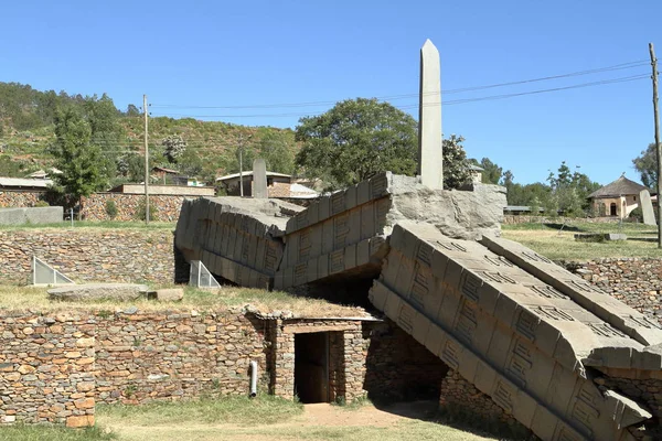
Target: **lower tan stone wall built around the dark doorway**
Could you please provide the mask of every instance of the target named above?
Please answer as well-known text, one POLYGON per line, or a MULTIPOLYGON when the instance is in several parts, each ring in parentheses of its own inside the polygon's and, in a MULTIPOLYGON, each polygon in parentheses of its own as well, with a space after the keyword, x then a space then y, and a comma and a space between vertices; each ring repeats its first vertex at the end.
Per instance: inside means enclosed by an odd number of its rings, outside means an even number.
POLYGON ((331 401, 366 394, 416 399, 416 390, 438 390, 446 373, 410 336, 381 321, 135 308, 3 312, 0 423, 89 426, 95 402, 247 395, 252 361, 259 390, 292 398, 296 335, 322 332, 329 333, 331 401))

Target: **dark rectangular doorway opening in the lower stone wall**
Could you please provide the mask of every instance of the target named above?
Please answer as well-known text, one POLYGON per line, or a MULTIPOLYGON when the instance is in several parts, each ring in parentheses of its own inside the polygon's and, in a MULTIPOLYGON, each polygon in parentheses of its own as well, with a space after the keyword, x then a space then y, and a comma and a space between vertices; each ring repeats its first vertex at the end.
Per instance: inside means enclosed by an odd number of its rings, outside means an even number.
POLYGON ((329 333, 295 334, 295 394, 299 400, 329 402, 329 333))

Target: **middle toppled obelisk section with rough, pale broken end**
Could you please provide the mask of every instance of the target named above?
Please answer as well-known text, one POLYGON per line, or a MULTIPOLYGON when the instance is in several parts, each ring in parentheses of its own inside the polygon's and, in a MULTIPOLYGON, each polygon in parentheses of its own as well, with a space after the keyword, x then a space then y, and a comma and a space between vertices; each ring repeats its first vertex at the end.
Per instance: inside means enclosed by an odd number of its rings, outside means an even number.
POLYGON ((430 190, 417 178, 380 173, 320 197, 287 222, 275 286, 288 289, 339 275, 374 278, 397 222, 431 223, 452 237, 477 238, 499 232, 504 204, 496 185, 430 190))

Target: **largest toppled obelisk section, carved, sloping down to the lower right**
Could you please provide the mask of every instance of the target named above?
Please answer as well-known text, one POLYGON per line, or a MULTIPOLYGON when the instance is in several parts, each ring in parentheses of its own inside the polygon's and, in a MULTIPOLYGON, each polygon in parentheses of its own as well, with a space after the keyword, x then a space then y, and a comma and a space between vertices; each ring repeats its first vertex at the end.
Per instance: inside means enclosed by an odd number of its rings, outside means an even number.
POLYGON ((476 241, 401 223, 370 298, 543 440, 629 439, 627 426, 651 418, 604 395, 583 364, 643 345, 476 241))

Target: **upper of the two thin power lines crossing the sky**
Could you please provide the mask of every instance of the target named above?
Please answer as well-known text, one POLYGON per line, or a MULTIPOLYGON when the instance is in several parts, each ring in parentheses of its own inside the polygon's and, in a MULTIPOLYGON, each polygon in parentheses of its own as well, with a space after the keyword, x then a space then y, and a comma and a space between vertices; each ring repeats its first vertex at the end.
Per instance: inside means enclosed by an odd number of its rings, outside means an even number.
MULTIPOLYGON (((549 79, 559 79, 559 78, 567 78, 567 77, 574 77, 574 76, 598 74, 598 73, 604 73, 604 72, 613 72, 613 71, 620 71, 620 69, 627 69, 627 68, 634 68, 634 67, 640 67, 640 66, 644 66, 648 64, 649 64, 649 62, 643 60, 643 61, 637 61, 637 62, 616 64, 612 66, 598 67, 598 68, 588 69, 588 71, 578 71, 578 72, 572 72, 572 73, 567 73, 567 74, 545 76, 545 77, 540 77, 540 78, 530 78, 530 79, 491 84, 491 85, 484 85, 484 86, 463 87, 463 88, 458 88, 458 89, 442 89, 441 93, 444 95, 452 95, 452 94, 460 94, 460 93, 467 93, 467 92, 484 90, 484 89, 496 88, 496 87, 514 86, 514 85, 521 85, 521 84, 527 84, 527 83, 544 82, 544 80, 549 80, 549 79)), ((396 100, 396 99, 413 98, 413 97, 417 97, 418 95, 419 94, 387 95, 387 96, 381 96, 381 97, 376 97, 376 98, 382 99, 382 100, 396 100)), ((290 108, 290 107, 318 107, 318 106, 333 105, 337 101, 309 101, 309 103, 284 103, 284 104, 264 104, 264 105, 247 105, 247 106, 186 106, 186 105, 172 105, 172 104, 161 104, 161 105, 154 104, 151 107, 152 108, 178 108, 178 109, 269 109, 269 108, 290 108)))

